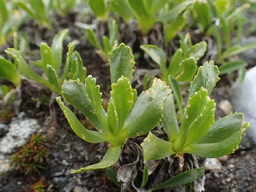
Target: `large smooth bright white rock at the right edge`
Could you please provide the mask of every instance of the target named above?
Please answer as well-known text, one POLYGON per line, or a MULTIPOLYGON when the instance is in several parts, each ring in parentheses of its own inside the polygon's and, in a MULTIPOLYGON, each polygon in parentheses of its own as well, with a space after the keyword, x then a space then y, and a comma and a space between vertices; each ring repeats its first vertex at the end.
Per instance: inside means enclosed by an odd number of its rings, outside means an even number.
POLYGON ((244 120, 250 122, 247 135, 256 143, 256 67, 247 71, 242 85, 232 86, 231 99, 234 110, 244 113, 244 120))

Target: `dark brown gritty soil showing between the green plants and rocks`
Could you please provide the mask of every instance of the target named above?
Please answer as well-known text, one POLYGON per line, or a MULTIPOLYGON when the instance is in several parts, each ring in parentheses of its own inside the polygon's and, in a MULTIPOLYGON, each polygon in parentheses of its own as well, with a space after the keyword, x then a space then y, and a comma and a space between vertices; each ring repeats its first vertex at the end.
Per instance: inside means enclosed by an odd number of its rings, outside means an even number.
MULTIPOLYGON (((58 25, 54 25, 54 31, 52 32, 38 27, 37 23, 33 23, 32 21, 26 23, 21 30, 28 33, 31 42, 30 47, 36 52, 34 56, 30 55, 26 57, 26 59, 39 59, 39 42, 46 41, 48 44, 51 44, 53 36, 59 30, 69 28, 68 41, 66 40, 64 42, 64 55, 67 52, 67 44, 75 39, 79 40, 79 44, 76 45, 76 50, 81 54, 84 66, 87 67, 87 74, 96 77, 97 84, 100 85, 101 92, 103 93, 104 102, 107 103, 111 89, 109 66, 102 61, 99 55, 96 54, 94 48, 87 41, 81 39, 84 32, 82 29, 78 29, 74 26, 75 18, 75 13, 66 18, 58 16, 53 17, 53 23, 58 23, 58 25)), ((125 29, 125 27, 128 26, 122 25, 121 27, 125 29)), ((120 39, 127 44, 131 44, 133 51, 139 53, 140 59, 138 59, 135 68, 156 68, 157 65, 148 58, 145 58, 145 55, 138 47, 143 43, 158 44, 161 47, 163 39, 160 39, 160 35, 158 35, 161 26, 156 26, 148 39, 141 38, 139 32, 134 32, 129 27, 127 29, 127 36, 124 35, 120 37, 120 39)), ((12 47, 11 41, 7 47, 12 47)), ((175 47, 177 47, 177 40, 165 49, 167 55, 171 55, 175 47)), ((0 53, 3 53, 2 49, 0 53)), ((133 85, 135 86, 137 84, 139 83, 134 82, 133 85)), ((230 100, 228 93, 229 86, 230 79, 227 78, 227 76, 223 76, 221 81, 218 82, 217 87, 212 91, 211 98, 216 102, 216 119, 224 116, 224 113, 218 107, 218 103, 223 99, 230 100)), ((41 125, 43 125, 45 119, 50 114, 49 107, 48 105, 38 105, 38 99, 40 99, 42 95, 50 99, 50 91, 41 85, 36 85, 26 80, 23 81, 21 90, 22 105, 20 111, 24 111, 29 117, 38 119, 41 125)), ((139 90, 142 90, 141 86, 139 90)), ((184 95, 186 95, 186 93, 184 95)), ((55 108, 55 113, 58 118, 57 124, 55 124, 55 131, 53 131, 53 134, 48 138, 49 155, 45 170, 26 176, 18 171, 7 172, 0 177, 0 192, 30 192, 31 186, 40 179, 44 181, 47 192, 71 192, 75 186, 82 187, 84 192, 119 192, 120 188, 107 179, 104 170, 89 171, 74 175, 70 173, 71 169, 79 169, 83 166, 99 162, 105 154, 107 144, 91 144, 81 140, 70 129, 56 103, 53 108, 55 108)), ((45 130, 45 133, 47 134, 48 131, 45 130)), ((222 162, 223 168, 221 171, 206 172, 205 191, 256 192, 255 152, 255 145, 253 145, 250 138, 247 136, 244 137, 240 149, 234 154, 230 154, 227 161, 222 162)))

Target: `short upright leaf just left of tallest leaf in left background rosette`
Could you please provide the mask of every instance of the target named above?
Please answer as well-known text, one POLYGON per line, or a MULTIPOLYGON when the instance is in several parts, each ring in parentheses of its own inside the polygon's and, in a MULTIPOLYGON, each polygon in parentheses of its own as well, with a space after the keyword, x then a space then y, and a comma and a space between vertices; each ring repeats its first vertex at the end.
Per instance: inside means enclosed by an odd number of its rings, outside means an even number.
POLYGON ((41 62, 43 63, 44 73, 47 75, 47 64, 51 65, 54 69, 54 58, 52 54, 52 50, 46 43, 40 44, 40 52, 41 52, 41 62))

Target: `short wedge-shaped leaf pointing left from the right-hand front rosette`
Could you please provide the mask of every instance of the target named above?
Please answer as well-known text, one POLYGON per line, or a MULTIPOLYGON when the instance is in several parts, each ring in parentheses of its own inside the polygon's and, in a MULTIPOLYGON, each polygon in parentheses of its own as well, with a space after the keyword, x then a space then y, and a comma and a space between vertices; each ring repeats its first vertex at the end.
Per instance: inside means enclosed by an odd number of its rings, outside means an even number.
POLYGON ((149 132, 148 136, 141 144, 145 161, 147 160, 160 160, 174 154, 172 151, 172 143, 162 140, 149 132))

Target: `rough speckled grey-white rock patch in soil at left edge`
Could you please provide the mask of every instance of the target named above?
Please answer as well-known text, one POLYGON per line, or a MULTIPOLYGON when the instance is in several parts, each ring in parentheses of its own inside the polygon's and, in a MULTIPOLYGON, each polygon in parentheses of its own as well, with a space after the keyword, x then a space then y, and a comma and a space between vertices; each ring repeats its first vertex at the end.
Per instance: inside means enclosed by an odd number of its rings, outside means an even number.
POLYGON ((5 137, 0 139, 0 152, 12 153, 14 148, 24 145, 32 133, 40 129, 36 119, 13 118, 9 124, 9 131, 5 137))

